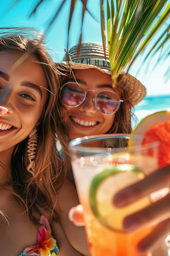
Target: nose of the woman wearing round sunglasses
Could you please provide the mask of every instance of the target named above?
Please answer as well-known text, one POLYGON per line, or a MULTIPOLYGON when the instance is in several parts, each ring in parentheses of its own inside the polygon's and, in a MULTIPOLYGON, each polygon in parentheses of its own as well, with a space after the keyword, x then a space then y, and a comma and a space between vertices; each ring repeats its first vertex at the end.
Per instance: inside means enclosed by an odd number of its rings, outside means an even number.
POLYGON ((83 103, 79 106, 79 110, 86 114, 93 114, 96 112, 95 102, 94 102, 95 92, 88 90, 86 93, 86 98, 83 103))

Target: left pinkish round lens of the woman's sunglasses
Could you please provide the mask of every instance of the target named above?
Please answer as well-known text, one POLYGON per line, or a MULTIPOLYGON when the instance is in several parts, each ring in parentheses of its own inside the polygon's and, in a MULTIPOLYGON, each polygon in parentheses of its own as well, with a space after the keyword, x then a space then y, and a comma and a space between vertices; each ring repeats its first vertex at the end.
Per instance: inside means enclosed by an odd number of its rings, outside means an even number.
POLYGON ((66 83, 61 89, 60 97, 64 105, 76 107, 84 100, 85 93, 84 89, 77 83, 66 83))

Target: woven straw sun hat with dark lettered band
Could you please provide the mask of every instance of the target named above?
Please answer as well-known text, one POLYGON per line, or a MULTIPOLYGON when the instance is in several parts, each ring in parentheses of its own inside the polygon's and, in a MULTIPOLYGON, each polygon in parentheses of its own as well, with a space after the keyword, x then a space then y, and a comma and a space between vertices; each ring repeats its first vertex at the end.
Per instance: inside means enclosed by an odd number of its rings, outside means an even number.
MULTIPOLYGON (((79 56, 77 57, 77 46, 69 50, 71 62, 68 63, 67 55, 64 56, 62 63, 64 67, 72 69, 95 68, 106 74, 112 74, 109 64, 108 48, 106 48, 106 60, 102 43, 82 43, 79 56)), ((131 99, 133 106, 146 96, 146 88, 134 76, 128 73, 121 73, 117 79, 117 85, 124 90, 124 94, 131 99)))

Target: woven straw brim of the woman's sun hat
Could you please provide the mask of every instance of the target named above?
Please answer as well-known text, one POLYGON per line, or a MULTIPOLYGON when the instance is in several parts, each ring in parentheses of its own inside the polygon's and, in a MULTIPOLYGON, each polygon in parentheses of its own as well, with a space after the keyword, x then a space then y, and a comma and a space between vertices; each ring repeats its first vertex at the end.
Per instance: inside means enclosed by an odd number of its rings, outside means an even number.
MULTIPOLYGON (((112 75, 110 67, 103 67, 99 65, 91 65, 91 64, 84 64, 84 63, 75 63, 75 62, 68 62, 62 61, 61 63, 56 63, 60 65, 60 67, 64 67, 67 70, 75 69, 75 70, 82 70, 82 69, 89 69, 95 68, 103 73, 112 75)), ((145 86, 137 80, 134 76, 128 73, 120 73, 119 78, 116 81, 116 84, 126 92, 128 99, 132 102, 133 106, 137 105, 144 97, 146 96, 146 88, 145 86)))

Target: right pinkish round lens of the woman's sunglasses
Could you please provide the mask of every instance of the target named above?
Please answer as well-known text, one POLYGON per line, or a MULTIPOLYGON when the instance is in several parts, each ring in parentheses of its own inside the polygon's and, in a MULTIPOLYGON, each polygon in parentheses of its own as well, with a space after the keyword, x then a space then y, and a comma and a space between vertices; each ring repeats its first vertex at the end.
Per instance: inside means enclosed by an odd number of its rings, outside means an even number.
POLYGON ((114 92, 99 92, 95 97, 96 108, 104 113, 111 114, 119 109, 120 101, 114 92))

